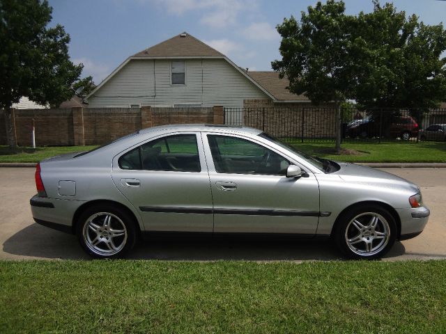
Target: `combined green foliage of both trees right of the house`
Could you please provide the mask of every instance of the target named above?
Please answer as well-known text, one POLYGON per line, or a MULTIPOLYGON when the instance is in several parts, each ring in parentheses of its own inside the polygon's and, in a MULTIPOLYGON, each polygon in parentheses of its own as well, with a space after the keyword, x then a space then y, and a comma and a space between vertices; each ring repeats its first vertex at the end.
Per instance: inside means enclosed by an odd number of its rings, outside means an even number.
POLYGON ((366 106, 429 108, 446 100, 446 31, 392 3, 346 15, 343 1, 308 7, 277 26, 282 60, 272 68, 289 90, 313 102, 347 99, 366 106))

